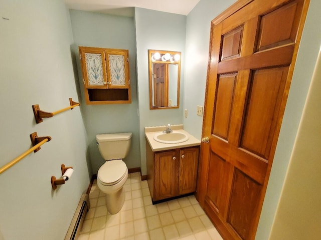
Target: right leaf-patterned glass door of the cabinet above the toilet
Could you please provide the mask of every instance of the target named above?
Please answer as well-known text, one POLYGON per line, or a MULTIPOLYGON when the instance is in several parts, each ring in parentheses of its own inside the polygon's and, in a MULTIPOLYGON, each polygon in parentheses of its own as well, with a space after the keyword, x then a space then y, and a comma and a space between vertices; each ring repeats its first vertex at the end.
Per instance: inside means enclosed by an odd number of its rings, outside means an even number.
POLYGON ((128 50, 108 50, 105 54, 108 88, 128 88, 128 50))

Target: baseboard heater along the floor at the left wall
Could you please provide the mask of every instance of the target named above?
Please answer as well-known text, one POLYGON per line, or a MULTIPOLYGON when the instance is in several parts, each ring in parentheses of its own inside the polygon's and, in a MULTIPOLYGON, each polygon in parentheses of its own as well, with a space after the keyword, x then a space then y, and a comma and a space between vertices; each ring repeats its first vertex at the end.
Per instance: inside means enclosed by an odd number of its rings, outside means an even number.
POLYGON ((76 208, 74 217, 71 220, 65 240, 76 240, 77 239, 77 237, 79 235, 79 231, 82 226, 82 223, 84 222, 84 219, 86 217, 86 213, 89 210, 89 207, 90 207, 89 195, 82 194, 80 197, 78 206, 76 208))

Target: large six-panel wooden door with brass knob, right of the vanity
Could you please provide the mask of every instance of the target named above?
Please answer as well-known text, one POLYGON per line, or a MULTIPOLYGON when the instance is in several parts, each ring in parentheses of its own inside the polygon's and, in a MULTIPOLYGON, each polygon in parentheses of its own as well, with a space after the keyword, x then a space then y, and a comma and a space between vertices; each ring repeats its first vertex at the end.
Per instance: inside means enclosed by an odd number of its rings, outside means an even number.
POLYGON ((308 0, 240 0, 212 21, 197 198, 254 239, 308 0))

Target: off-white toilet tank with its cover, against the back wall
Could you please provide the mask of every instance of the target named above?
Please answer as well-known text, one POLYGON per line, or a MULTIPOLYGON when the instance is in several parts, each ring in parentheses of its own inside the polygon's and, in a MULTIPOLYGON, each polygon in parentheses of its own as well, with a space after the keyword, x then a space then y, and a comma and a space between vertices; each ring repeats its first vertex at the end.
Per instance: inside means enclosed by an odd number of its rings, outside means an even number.
POLYGON ((105 160, 123 159, 131 143, 131 132, 97 134, 96 140, 101 156, 105 160))

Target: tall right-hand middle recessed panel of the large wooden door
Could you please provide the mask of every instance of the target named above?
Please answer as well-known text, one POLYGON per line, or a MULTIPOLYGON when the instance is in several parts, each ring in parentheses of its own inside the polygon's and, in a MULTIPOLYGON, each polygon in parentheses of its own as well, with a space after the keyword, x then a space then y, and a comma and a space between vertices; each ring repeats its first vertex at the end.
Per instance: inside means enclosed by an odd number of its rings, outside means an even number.
POLYGON ((244 113, 240 147, 268 159, 288 67, 255 70, 244 113))

